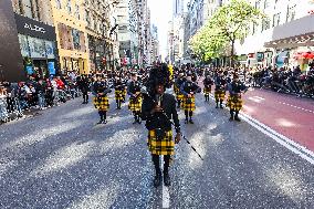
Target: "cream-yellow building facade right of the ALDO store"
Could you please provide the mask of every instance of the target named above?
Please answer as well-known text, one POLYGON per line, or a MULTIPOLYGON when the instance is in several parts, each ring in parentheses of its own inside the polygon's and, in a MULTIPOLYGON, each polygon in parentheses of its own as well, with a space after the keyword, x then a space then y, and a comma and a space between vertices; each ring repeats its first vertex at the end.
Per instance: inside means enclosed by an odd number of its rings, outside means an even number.
POLYGON ((84 0, 52 0, 61 73, 90 72, 84 0))

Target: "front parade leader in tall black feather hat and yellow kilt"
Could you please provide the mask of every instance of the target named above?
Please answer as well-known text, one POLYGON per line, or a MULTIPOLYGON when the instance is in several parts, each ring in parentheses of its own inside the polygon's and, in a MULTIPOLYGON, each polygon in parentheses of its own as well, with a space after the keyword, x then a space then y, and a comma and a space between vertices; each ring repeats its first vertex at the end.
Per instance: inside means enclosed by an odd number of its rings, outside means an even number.
POLYGON ((146 121, 148 129, 148 149, 151 153, 156 176, 154 186, 161 184, 161 170, 159 167, 159 156, 164 156, 164 184, 170 186, 169 166, 170 158, 175 154, 175 143, 180 140, 180 124, 176 109, 176 98, 171 94, 165 93, 168 84, 167 65, 153 69, 149 79, 149 93, 144 95, 142 106, 142 117, 146 121), (176 128, 175 142, 172 138, 171 121, 176 128))

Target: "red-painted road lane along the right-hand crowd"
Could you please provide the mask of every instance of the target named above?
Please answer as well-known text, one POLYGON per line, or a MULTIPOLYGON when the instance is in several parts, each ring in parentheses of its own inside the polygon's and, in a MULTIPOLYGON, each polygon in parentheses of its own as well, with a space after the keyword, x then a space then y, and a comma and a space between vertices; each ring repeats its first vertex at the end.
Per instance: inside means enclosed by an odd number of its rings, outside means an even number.
POLYGON ((257 88, 243 98, 243 113, 314 151, 313 101, 257 88))

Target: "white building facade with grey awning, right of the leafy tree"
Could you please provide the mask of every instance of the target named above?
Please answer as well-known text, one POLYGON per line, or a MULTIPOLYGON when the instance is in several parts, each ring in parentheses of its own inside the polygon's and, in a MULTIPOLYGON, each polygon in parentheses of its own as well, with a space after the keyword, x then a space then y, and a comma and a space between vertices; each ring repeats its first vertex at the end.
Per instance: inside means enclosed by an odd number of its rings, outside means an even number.
POLYGON ((268 15, 259 24, 252 24, 250 34, 238 42, 238 55, 248 55, 242 63, 254 66, 306 69, 313 59, 303 56, 314 52, 314 9, 313 0, 300 3, 297 0, 254 0, 255 8, 268 15))

